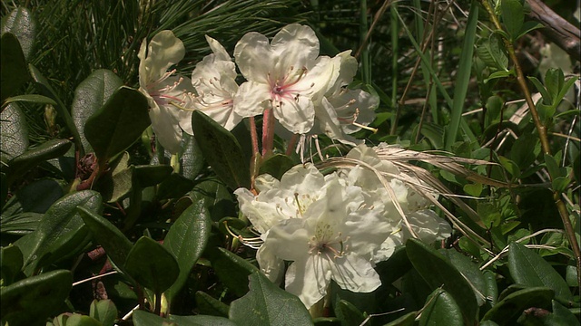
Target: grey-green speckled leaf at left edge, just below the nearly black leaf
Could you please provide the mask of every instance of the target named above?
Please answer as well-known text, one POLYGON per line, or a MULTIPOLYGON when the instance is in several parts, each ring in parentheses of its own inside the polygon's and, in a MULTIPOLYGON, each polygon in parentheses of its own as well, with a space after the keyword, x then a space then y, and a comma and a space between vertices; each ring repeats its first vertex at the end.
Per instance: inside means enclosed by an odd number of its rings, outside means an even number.
POLYGON ((28 127, 25 114, 18 104, 10 103, 0 112, 0 129, 0 158, 6 163, 28 149, 28 127))

